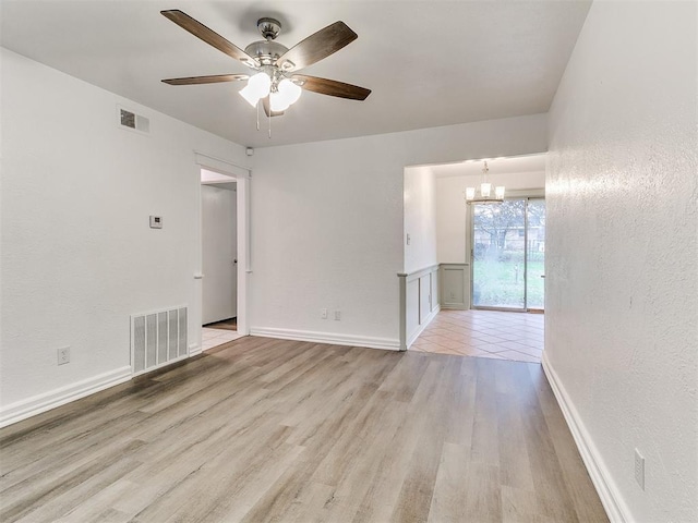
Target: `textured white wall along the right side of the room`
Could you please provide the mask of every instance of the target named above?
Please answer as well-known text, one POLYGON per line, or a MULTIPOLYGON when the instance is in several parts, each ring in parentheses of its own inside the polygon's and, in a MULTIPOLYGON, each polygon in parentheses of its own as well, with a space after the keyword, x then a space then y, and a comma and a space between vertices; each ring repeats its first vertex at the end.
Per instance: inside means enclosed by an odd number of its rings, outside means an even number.
POLYGON ((697 10, 594 2, 550 113, 545 358, 616 521, 698 521, 697 10))

